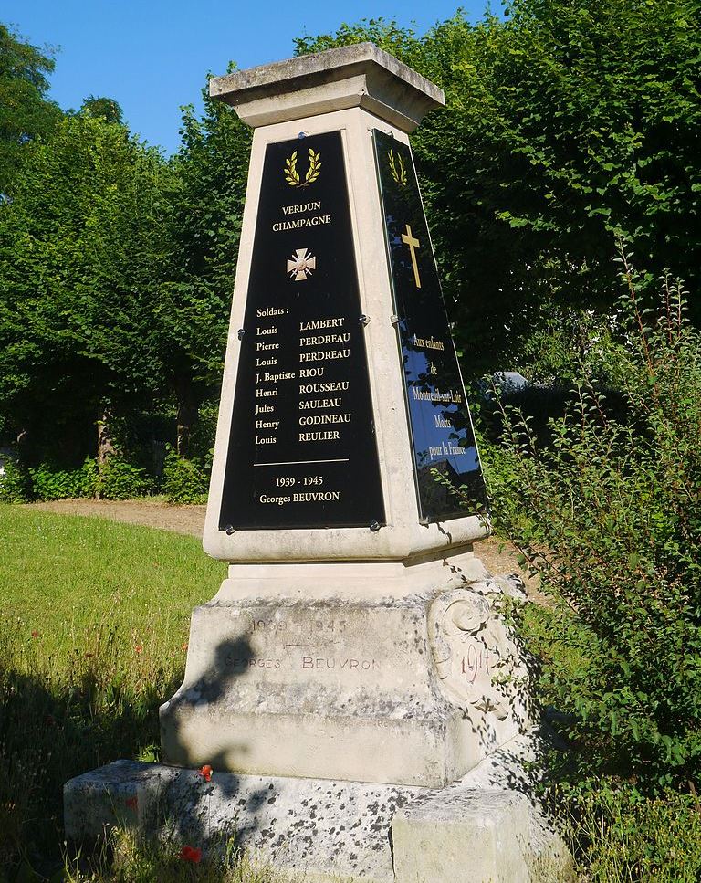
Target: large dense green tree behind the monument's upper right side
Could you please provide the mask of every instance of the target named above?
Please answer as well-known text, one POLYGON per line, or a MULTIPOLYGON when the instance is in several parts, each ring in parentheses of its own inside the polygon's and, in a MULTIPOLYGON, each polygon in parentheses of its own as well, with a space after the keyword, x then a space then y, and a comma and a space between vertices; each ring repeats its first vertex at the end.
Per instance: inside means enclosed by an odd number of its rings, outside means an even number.
POLYGON ((424 37, 371 21, 297 44, 374 39, 445 89, 413 147, 475 373, 513 363, 553 317, 611 310, 617 238, 653 276, 669 267, 694 290, 701 272, 697 3, 516 0, 509 12, 476 25, 458 14, 424 37))

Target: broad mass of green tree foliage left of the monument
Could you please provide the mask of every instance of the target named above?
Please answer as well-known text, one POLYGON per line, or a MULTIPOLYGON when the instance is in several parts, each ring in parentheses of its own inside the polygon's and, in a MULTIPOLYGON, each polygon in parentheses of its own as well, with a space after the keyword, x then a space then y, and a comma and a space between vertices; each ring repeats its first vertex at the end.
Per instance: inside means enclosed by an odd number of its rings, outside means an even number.
MULTIPOLYGON (((0 80, 6 61, 13 83, 47 89, 53 62, 0 37, 0 80)), ((206 97, 166 162, 121 119, 90 95, 43 143, 18 136, 23 173, 0 212, 0 427, 34 466, 74 468, 96 420, 173 401, 186 454, 220 379, 251 132, 206 97)))

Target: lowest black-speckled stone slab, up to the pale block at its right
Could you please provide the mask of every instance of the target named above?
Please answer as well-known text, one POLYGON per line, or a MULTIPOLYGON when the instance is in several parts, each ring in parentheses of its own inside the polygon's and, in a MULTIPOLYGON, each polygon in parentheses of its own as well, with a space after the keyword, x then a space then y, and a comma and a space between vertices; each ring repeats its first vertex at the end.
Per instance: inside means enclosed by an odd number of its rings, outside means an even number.
POLYGON ((419 793, 216 772, 207 783, 193 770, 117 761, 68 782, 64 803, 73 840, 121 825, 168 837, 176 852, 183 844, 208 845, 215 852, 233 841, 297 873, 385 883, 393 879, 392 817, 419 793))

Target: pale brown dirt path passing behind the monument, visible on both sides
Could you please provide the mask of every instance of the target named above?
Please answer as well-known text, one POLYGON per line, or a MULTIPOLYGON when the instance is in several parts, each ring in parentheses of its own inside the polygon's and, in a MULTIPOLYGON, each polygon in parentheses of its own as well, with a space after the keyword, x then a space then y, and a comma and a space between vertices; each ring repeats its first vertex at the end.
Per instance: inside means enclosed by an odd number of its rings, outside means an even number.
MULTIPOLYGON (((66 515, 88 515, 113 521, 127 521, 162 531, 186 533, 201 537, 204 531, 205 506, 171 506, 150 499, 58 499, 48 503, 29 503, 32 509, 63 512, 66 515)), ((513 546, 494 537, 476 544, 475 552, 490 573, 518 573, 527 584, 529 594, 537 591, 537 583, 528 579, 517 561, 513 546)))

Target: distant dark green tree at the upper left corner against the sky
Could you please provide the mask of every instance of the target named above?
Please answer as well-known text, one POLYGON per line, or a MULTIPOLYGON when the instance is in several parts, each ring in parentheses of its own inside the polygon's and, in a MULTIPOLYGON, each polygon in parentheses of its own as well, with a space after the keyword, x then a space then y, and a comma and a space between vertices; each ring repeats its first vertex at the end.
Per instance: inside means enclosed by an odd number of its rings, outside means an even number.
POLYGON ((0 24, 0 197, 12 191, 29 142, 46 137, 61 117, 47 100, 54 59, 0 24))

